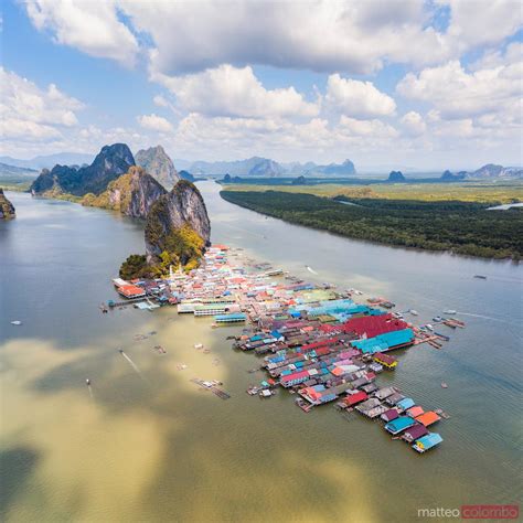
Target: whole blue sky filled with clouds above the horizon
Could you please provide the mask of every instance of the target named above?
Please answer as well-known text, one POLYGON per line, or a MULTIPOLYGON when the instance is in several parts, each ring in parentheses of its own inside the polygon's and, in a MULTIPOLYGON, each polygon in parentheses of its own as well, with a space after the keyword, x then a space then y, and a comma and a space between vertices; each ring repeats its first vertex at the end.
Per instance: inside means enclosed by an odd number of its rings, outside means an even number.
POLYGON ((523 3, 4 0, 0 154, 523 164, 523 3))

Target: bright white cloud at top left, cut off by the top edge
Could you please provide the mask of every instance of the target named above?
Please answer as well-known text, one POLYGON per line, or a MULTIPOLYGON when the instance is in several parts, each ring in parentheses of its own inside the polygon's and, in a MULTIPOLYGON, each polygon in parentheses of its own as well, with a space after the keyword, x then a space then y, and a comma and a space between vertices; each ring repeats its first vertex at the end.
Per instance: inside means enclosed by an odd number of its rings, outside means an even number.
POLYGON ((118 19, 113 0, 28 0, 25 9, 40 31, 47 30, 56 43, 97 57, 132 66, 138 42, 118 19))

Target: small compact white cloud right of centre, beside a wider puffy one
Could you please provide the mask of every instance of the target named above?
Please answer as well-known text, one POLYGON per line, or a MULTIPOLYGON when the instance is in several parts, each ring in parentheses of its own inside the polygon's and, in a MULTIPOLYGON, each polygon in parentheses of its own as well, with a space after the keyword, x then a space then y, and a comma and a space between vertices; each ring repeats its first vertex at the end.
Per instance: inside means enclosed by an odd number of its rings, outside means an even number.
POLYGON ((329 76, 325 102, 348 116, 388 116, 396 110, 396 104, 388 95, 374 87, 372 82, 342 78, 339 74, 329 76))

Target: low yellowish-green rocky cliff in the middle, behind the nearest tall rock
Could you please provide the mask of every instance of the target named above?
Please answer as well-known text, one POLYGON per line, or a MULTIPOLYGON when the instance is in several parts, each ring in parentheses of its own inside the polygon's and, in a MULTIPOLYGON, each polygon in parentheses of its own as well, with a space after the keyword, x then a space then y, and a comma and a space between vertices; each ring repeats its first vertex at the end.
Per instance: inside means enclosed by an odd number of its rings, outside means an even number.
POLYGON ((152 204, 163 194, 167 191, 160 183, 141 167, 134 166, 129 168, 129 172, 110 182, 107 190, 98 196, 86 194, 82 204, 146 218, 152 204))

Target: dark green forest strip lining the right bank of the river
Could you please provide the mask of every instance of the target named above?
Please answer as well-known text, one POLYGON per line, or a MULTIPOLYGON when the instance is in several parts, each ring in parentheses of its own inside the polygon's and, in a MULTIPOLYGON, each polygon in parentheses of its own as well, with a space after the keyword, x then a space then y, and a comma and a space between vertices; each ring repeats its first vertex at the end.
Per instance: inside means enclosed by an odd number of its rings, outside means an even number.
POLYGON ((350 238, 483 258, 523 255, 521 209, 487 211, 491 204, 459 201, 330 200, 278 191, 220 194, 243 207, 350 238))

